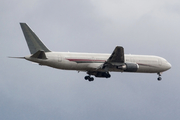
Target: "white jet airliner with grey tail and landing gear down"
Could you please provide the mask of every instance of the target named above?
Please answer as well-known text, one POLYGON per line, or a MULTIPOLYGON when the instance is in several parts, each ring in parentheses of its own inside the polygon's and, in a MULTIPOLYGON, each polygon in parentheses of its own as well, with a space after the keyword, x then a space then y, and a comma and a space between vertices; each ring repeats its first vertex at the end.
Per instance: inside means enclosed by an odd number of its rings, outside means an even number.
POLYGON ((171 68, 164 58, 152 55, 124 54, 122 46, 116 46, 112 54, 53 52, 50 51, 26 23, 20 23, 31 55, 22 58, 39 65, 62 70, 86 72, 85 80, 93 81, 95 77, 110 78, 110 72, 161 73, 171 68))

